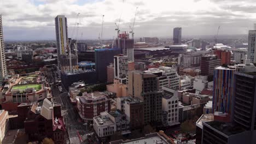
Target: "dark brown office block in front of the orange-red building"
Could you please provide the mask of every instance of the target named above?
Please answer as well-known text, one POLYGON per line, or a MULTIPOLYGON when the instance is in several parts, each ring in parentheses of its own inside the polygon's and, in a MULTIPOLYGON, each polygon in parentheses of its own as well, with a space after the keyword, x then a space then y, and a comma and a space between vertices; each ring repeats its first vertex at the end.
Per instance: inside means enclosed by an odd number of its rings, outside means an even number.
POLYGON ((201 57, 201 75, 213 75, 214 68, 220 66, 220 59, 216 55, 201 57))

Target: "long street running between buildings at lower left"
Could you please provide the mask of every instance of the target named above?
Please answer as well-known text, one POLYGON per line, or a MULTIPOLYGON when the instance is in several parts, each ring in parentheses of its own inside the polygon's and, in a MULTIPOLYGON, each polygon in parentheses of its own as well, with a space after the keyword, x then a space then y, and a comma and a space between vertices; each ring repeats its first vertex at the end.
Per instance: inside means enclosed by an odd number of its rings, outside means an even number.
MULTIPOLYGON (((48 71, 48 80, 49 82, 54 82, 54 76, 52 71, 48 71)), ((71 104, 71 101, 68 96, 68 92, 60 93, 57 86, 52 86, 52 94, 53 100, 55 103, 61 104, 61 113, 63 118, 65 119, 66 129, 69 136, 69 142, 71 144, 80 144, 80 143, 88 143, 83 140, 80 141, 79 135, 82 139, 86 138, 86 126, 83 125, 84 123, 79 119, 79 114, 75 110, 74 105, 71 104), (78 134, 79 133, 79 134, 78 134)))

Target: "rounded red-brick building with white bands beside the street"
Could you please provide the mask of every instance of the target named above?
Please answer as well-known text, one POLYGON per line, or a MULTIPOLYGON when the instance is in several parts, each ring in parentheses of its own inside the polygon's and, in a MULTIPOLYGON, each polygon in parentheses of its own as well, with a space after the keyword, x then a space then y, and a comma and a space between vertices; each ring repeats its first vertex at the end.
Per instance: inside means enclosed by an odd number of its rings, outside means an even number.
POLYGON ((85 92, 82 97, 78 98, 77 106, 80 117, 85 122, 91 122, 101 112, 110 111, 110 99, 100 92, 85 92))

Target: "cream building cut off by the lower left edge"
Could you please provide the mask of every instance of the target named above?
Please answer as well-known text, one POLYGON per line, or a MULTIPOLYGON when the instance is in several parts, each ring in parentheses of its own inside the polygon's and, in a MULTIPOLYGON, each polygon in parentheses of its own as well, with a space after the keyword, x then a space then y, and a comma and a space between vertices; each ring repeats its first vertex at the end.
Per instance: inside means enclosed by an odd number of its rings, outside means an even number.
POLYGON ((0 110, 0 143, 2 143, 5 134, 9 130, 9 115, 8 111, 0 110))

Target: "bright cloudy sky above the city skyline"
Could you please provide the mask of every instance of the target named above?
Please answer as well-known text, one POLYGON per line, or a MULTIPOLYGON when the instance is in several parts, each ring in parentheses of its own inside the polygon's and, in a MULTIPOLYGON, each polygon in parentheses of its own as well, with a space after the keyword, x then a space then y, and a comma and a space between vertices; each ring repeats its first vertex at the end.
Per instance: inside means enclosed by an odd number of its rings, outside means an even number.
POLYGON ((66 15, 69 37, 113 38, 115 22, 129 31, 136 7, 135 38, 183 35, 247 34, 256 22, 255 0, 0 0, 5 40, 55 39, 54 18, 66 15), (79 14, 77 18, 77 14, 79 14), (75 22, 79 22, 76 34, 75 22))

